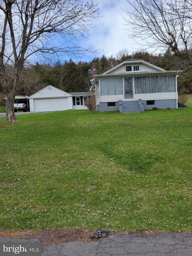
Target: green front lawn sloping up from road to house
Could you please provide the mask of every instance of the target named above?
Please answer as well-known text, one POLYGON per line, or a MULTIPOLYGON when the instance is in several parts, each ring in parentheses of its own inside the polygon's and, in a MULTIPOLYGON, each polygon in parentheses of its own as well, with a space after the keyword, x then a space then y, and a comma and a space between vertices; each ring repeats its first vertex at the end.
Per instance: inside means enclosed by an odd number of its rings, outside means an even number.
POLYGON ((192 231, 192 104, 0 118, 0 227, 192 231))

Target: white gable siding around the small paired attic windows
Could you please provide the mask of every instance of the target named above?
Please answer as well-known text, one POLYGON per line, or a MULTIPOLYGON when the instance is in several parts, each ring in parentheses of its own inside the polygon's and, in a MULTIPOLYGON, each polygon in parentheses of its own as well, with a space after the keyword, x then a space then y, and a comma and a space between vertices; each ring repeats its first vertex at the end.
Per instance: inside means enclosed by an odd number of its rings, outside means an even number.
POLYGON ((156 68, 152 68, 148 65, 144 65, 144 64, 141 64, 141 63, 135 63, 135 64, 125 64, 125 65, 122 65, 121 67, 119 68, 116 68, 115 70, 111 71, 110 73, 107 73, 108 75, 109 74, 119 74, 119 73, 126 73, 126 74, 131 74, 131 73, 136 73, 136 71, 132 71, 132 72, 126 72, 126 69, 125 67, 126 66, 139 66, 140 68, 140 71, 138 71, 137 73, 143 73, 143 72, 159 72, 156 68))

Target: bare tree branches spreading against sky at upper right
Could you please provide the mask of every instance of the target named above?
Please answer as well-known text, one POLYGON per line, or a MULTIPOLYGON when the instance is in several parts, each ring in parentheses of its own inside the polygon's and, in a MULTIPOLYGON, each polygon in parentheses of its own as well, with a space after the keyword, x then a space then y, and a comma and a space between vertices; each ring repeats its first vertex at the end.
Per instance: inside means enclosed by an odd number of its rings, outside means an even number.
POLYGON ((192 1, 126 0, 125 24, 130 37, 148 47, 165 51, 169 47, 178 57, 192 64, 192 1))

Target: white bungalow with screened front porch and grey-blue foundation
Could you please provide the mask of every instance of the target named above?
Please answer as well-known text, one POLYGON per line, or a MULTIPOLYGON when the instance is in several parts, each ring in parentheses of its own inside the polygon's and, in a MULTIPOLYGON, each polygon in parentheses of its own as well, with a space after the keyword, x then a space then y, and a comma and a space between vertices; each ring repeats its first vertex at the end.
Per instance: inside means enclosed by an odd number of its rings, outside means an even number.
POLYGON ((126 60, 91 80, 96 108, 121 113, 177 108, 177 77, 181 72, 166 71, 140 59, 126 60))

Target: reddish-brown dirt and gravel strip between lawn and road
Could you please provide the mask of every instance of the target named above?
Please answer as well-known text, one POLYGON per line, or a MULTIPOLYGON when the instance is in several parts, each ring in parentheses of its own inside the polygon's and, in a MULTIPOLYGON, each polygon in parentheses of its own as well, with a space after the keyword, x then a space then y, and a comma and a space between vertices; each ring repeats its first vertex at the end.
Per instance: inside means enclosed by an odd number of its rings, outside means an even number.
MULTIPOLYGON (((0 229, 0 237, 10 237, 10 238, 20 238, 20 239, 39 239, 42 245, 50 245, 52 243, 59 244, 63 242, 92 242, 92 241, 101 241, 104 237, 107 237, 112 234, 134 234, 139 236, 147 236, 155 232, 144 232, 144 231, 135 231, 135 232, 119 232, 112 230, 82 230, 80 228, 47 228, 38 231, 31 230, 4 230, 0 229)), ((157 232, 156 232, 157 233, 157 232)))

